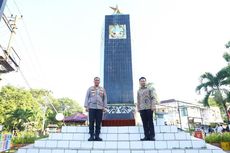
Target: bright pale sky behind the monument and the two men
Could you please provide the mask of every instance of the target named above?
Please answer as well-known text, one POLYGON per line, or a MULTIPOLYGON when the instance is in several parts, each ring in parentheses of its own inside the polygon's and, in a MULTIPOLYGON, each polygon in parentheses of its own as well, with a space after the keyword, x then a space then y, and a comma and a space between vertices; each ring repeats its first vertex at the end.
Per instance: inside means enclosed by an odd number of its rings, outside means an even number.
MULTIPOLYGON (((229 0, 8 0, 4 13, 23 15, 13 46, 28 83, 12 72, 1 76, 1 85, 29 84, 83 104, 94 76, 102 77, 104 17, 116 5, 130 15, 134 97, 145 76, 159 100, 200 100, 200 75, 227 64, 229 0)), ((1 21, 0 44, 8 37, 1 21)))

